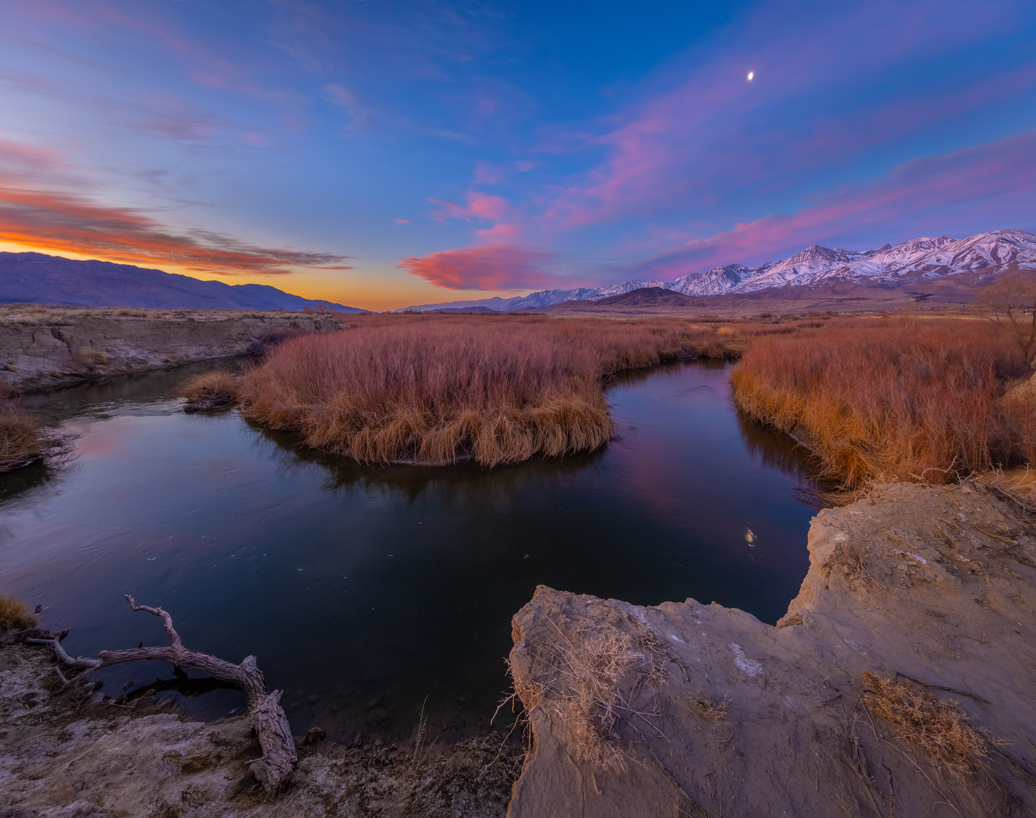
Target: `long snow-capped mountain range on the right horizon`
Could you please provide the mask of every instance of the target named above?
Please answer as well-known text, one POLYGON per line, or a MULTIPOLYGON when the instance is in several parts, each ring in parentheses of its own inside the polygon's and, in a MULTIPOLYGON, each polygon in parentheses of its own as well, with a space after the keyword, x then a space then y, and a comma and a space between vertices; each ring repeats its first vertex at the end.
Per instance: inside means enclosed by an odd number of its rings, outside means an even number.
POLYGON ((643 287, 664 287, 684 295, 724 295, 781 287, 819 287, 838 282, 898 286, 914 281, 945 279, 961 272, 981 270, 983 274, 995 275, 1014 269, 1036 270, 1036 234, 1025 230, 996 230, 961 239, 948 236, 912 238, 895 246, 886 244, 867 251, 830 250, 814 244, 783 261, 768 261, 758 267, 727 264, 671 282, 629 281, 593 289, 541 290, 514 298, 496 296, 407 309, 488 306, 500 312, 516 312, 562 301, 598 300, 643 287))

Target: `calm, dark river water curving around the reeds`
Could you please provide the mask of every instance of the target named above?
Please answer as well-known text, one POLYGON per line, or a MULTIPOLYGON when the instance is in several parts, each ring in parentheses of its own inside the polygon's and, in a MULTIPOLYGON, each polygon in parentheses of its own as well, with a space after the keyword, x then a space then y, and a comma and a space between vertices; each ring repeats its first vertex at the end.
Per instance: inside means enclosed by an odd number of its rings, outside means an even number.
MULTIPOLYGON (((430 736, 450 740, 487 728, 511 616, 539 584, 774 622, 806 574, 808 466, 738 414, 727 366, 624 374, 607 390, 617 439, 493 471, 363 467, 236 413, 184 414, 177 383, 226 366, 27 401, 69 451, 0 477, 0 592, 42 605, 69 651, 164 644, 131 593, 170 611, 189 647, 255 653, 296 733, 391 742, 424 706, 430 736)), ((203 718, 243 704, 172 671, 99 678, 203 718)))

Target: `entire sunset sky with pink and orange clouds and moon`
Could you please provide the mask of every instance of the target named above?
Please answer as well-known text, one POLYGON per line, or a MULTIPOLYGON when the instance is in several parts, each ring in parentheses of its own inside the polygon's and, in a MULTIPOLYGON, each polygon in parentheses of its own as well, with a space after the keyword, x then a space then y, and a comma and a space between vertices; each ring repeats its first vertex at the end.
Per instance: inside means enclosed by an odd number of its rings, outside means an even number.
POLYGON ((0 14, 0 251, 386 310, 1036 232, 1032 0, 0 14))

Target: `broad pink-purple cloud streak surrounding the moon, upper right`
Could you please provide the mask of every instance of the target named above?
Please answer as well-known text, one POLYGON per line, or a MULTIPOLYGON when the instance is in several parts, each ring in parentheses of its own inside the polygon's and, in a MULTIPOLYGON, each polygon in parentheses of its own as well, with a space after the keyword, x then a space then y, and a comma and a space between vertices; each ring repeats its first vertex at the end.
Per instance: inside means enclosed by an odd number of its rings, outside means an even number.
POLYGON ((967 22, 930 11, 926 3, 901 7, 894 17, 875 4, 839 6, 836 14, 817 14, 792 30, 771 19, 783 10, 739 22, 722 51, 668 90, 620 112, 597 135, 573 136, 570 144, 564 136, 555 139, 555 149, 565 153, 604 149, 606 155, 559 191, 535 197, 535 221, 545 231, 579 228, 680 212, 689 201, 708 207, 746 187, 786 191, 808 172, 995 106, 1036 82, 1031 65, 952 92, 919 87, 842 110, 841 98, 868 71, 967 45, 1006 22, 1004 9, 988 6, 965 11, 967 22), (852 36, 843 36, 847 32, 852 36), (746 66, 755 68, 751 83, 746 66), (830 112, 804 112, 773 125, 782 109, 799 108, 807 96, 830 99, 830 112))

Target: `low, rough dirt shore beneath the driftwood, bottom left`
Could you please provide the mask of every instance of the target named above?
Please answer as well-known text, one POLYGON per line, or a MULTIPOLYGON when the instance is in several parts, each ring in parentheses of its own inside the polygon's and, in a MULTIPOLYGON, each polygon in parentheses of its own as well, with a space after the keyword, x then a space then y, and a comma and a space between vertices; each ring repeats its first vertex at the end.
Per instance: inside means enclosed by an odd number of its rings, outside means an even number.
POLYGON ((145 696, 133 706, 62 689, 46 649, 0 646, 3 818, 503 816, 521 748, 500 736, 453 748, 299 747, 288 789, 267 797, 243 718, 204 724, 145 696))

